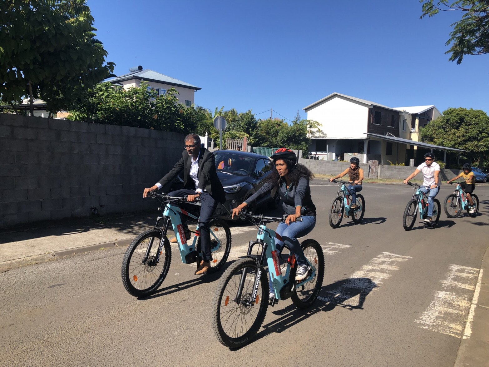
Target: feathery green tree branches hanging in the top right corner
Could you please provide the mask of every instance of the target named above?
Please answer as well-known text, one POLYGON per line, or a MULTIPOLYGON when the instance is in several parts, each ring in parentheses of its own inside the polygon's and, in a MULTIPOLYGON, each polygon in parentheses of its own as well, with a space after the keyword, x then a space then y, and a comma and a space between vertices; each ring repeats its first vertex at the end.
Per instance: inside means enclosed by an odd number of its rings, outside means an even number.
POLYGON ((489 1, 488 0, 420 0, 422 2, 422 19, 433 17, 440 11, 458 10, 463 13, 462 19, 451 24, 453 31, 445 46, 450 49, 449 60, 462 63, 464 55, 483 55, 489 52, 489 1))

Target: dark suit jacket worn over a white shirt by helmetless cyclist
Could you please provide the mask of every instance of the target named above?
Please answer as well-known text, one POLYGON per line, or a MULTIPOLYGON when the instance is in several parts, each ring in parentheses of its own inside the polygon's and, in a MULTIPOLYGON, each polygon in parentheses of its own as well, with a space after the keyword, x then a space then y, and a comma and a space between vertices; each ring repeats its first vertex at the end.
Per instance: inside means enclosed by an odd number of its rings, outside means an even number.
POLYGON ((192 165, 192 156, 190 156, 186 150, 182 153, 182 158, 175 164, 175 166, 168 172, 161 180, 159 184, 164 186, 172 181, 177 175, 183 171, 183 188, 191 190, 197 190, 198 188, 206 190, 214 200, 224 203, 226 200, 226 194, 222 188, 221 181, 216 172, 216 164, 214 160, 214 154, 209 152, 205 148, 200 148, 199 155, 199 172, 197 178, 199 184, 195 187, 195 182, 190 177, 190 167, 192 165))

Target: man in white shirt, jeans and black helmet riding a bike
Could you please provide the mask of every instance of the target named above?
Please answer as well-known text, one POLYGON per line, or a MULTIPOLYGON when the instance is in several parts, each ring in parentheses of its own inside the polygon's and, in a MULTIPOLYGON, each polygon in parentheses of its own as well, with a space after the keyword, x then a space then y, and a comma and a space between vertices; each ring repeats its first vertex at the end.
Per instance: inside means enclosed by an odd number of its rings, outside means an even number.
POLYGON ((418 173, 423 173, 423 186, 428 187, 420 187, 420 190, 428 194, 428 214, 426 219, 424 220, 427 223, 431 222, 431 217, 433 216, 433 199, 440 191, 440 186, 442 181, 440 180, 440 165, 435 162, 435 156, 433 153, 426 153, 424 155, 424 163, 421 163, 413 173, 409 175, 407 179, 403 181, 404 184, 407 184, 409 180, 414 178, 418 173))

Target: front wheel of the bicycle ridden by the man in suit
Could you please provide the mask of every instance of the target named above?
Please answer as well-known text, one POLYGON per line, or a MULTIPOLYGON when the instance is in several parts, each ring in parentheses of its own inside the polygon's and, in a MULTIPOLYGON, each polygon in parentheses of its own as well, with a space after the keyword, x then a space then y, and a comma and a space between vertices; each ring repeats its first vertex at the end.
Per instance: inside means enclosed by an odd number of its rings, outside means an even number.
MULTIPOLYGON (((139 234, 136 238, 133 239, 133 242, 129 245, 129 247, 126 250, 126 253, 124 254, 124 258, 122 260, 122 266, 121 266, 121 276, 122 276, 122 284, 124 284, 124 288, 126 288, 126 291, 129 292, 134 297, 144 297, 144 296, 149 296, 156 292, 158 287, 163 283, 163 280, 165 280, 166 275, 168 274, 168 270, 170 269, 170 264, 172 262, 172 250, 170 248, 170 243, 168 242, 168 238, 164 238, 163 242, 163 248, 162 252, 164 251, 165 253, 160 253, 160 258, 159 262, 163 263, 161 266, 161 272, 159 274, 153 275, 152 273, 156 270, 157 271, 157 265, 155 266, 149 266, 142 264, 141 260, 144 257, 146 253, 146 249, 141 249, 137 251, 137 259, 134 260, 133 267, 138 268, 137 274, 130 274, 133 273, 133 270, 136 269, 130 269, 131 266, 131 260, 133 259, 133 256, 135 255, 134 252, 136 252, 136 249, 138 246, 143 243, 145 240, 153 237, 154 241, 151 247, 151 252, 150 252, 150 257, 155 256, 156 252, 158 250, 160 241, 161 241, 161 231, 158 229, 149 229, 141 234, 139 234), (139 276, 137 276, 139 275, 139 276), (146 284, 145 282, 145 277, 150 276, 151 280, 149 284, 146 284), (143 287, 145 288, 137 288, 135 285, 138 284, 138 281, 141 281, 144 285, 143 287), (146 287, 146 285, 148 285, 146 287)), ((147 248, 147 246, 146 246, 147 248)))

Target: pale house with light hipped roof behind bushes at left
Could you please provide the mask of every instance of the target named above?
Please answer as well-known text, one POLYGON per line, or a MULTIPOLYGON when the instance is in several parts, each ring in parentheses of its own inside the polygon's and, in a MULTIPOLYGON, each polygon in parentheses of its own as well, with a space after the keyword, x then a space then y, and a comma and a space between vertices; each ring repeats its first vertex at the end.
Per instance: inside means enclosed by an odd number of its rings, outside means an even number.
POLYGON ((195 85, 160 74, 154 70, 143 70, 142 66, 131 68, 129 69, 129 73, 107 80, 107 82, 122 86, 124 89, 129 89, 131 87, 139 88, 143 80, 148 82, 148 89, 156 91, 156 95, 163 95, 168 89, 175 88, 179 93, 177 94, 178 101, 186 107, 190 107, 194 103, 194 94, 201 89, 195 85))

